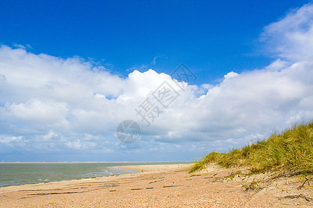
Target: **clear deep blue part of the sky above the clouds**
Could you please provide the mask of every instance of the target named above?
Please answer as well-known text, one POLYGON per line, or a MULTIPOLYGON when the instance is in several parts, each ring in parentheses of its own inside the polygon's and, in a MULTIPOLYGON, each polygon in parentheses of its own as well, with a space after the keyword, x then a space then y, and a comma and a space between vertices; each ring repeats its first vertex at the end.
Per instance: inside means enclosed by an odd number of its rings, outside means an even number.
POLYGON ((181 62, 198 84, 260 69, 264 26, 308 1, 0 1, 0 43, 32 53, 79 55, 127 76, 132 67, 171 73, 181 62))

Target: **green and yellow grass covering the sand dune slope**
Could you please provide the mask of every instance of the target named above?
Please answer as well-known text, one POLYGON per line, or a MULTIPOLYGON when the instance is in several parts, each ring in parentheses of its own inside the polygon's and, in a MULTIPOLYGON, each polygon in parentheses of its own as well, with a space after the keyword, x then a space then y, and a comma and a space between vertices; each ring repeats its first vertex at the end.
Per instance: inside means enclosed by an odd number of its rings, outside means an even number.
POLYGON ((225 168, 248 166, 251 173, 289 171, 293 174, 313 173, 313 123, 294 125, 280 134, 230 150, 229 153, 210 153, 197 161, 189 173, 216 163, 225 168))

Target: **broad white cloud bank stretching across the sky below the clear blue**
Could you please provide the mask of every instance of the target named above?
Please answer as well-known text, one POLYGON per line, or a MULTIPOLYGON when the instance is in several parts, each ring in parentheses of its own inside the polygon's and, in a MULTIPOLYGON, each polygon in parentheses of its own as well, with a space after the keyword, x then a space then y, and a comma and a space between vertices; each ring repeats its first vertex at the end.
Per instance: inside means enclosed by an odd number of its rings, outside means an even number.
POLYGON ((169 75, 152 69, 120 78, 80 58, 1 46, 0 150, 110 153, 118 160, 151 150, 151 159, 164 153, 194 159, 309 121, 312 14, 309 4, 264 29, 263 38, 277 55, 268 67, 230 71, 218 85, 186 85, 184 91, 169 75), (145 98, 157 103, 152 93, 164 81, 179 96, 147 127, 134 108, 145 98), (129 146, 115 138, 118 123, 125 119, 136 120, 142 128, 141 139, 129 146))

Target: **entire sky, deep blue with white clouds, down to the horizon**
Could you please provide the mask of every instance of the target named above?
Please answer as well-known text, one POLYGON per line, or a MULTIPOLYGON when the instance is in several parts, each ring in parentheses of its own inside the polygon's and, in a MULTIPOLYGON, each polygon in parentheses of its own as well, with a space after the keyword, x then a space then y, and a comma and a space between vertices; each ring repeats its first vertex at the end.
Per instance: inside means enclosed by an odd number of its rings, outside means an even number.
POLYGON ((191 160, 310 121, 310 2, 0 0, 0 161, 191 160), (179 96, 147 126, 164 81, 179 96))

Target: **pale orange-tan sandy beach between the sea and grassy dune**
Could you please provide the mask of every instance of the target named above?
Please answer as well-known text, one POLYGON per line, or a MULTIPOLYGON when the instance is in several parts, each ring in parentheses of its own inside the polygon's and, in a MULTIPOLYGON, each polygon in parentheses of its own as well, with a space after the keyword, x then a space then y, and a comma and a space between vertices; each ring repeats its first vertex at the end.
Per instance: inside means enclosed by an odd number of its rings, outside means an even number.
MULTIPOLYGON (((120 166, 141 173, 0 188, 0 207, 310 207, 312 188, 280 178, 258 180, 215 166, 189 174, 188 164, 120 166), (230 177, 230 175, 232 177, 230 177), (286 180, 286 182, 285 182, 286 180), (288 182, 287 182, 288 181, 288 182), (257 185, 259 185, 257 183, 257 185), (265 182, 264 182, 265 184, 265 182), (310 196, 311 195, 311 196, 310 196), (287 197, 286 197, 287 196, 287 197), (291 197, 290 197, 291 196, 291 197)), ((258 175, 264 178, 264 175, 258 175)))

